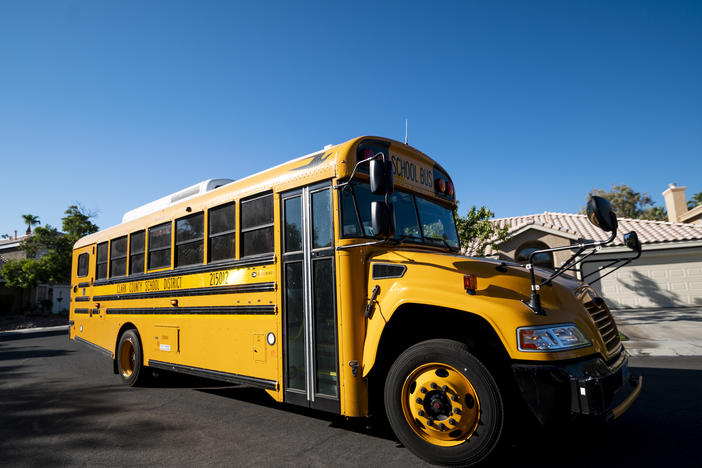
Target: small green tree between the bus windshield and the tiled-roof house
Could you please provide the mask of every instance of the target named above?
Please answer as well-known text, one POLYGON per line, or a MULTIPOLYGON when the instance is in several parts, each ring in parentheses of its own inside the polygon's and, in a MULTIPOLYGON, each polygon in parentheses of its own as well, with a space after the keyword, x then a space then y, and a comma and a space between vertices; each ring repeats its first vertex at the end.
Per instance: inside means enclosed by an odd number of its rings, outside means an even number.
POLYGON ((490 222, 495 214, 486 206, 477 208, 473 205, 466 216, 460 216, 458 210, 454 212, 456 228, 461 247, 470 255, 485 255, 488 247, 497 248, 498 244, 509 237, 508 227, 499 227, 490 222))

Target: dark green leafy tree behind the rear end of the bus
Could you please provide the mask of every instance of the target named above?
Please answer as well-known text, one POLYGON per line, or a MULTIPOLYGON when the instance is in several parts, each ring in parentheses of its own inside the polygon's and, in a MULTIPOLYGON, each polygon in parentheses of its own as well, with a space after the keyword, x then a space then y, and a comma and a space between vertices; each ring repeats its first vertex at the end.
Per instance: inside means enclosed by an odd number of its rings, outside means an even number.
POLYGON ((70 282, 73 244, 98 227, 90 221, 93 215, 76 205, 69 206, 65 215, 61 219, 63 233, 50 225, 36 228, 20 246, 27 258, 3 265, 1 273, 7 286, 31 288, 39 283, 70 282))

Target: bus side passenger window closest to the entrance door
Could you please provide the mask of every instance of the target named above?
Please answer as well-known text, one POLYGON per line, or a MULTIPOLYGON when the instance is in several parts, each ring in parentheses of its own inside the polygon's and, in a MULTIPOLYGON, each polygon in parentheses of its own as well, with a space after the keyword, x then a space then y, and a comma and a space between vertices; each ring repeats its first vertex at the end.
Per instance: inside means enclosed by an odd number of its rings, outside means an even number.
POLYGON ((273 253, 273 194, 241 202, 242 257, 273 253))

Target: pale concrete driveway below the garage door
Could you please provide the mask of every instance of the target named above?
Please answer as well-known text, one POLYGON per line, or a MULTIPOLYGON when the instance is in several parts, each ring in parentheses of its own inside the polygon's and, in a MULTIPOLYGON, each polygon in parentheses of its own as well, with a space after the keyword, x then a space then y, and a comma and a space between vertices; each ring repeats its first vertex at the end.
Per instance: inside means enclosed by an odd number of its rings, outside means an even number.
POLYGON ((702 356, 702 307, 612 310, 632 356, 702 356))

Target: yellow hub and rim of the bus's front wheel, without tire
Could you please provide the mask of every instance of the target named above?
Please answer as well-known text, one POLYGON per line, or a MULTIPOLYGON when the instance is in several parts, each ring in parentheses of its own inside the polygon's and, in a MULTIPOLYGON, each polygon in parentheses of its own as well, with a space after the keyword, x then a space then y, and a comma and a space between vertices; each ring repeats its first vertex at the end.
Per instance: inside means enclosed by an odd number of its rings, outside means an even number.
POLYGON ((446 364, 430 363, 416 368, 405 380, 402 412, 422 439, 450 447, 475 433, 480 402, 463 374, 446 364))

